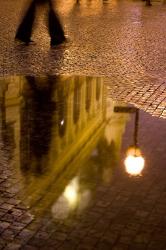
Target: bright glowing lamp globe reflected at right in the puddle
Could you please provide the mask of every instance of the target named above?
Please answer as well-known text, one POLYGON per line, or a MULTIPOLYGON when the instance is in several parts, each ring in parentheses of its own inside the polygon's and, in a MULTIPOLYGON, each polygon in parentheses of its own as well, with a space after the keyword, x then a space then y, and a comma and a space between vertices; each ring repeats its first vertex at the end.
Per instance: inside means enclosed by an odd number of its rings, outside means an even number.
POLYGON ((142 156, 129 155, 126 157, 124 164, 127 173, 136 176, 141 174, 145 160, 142 156))

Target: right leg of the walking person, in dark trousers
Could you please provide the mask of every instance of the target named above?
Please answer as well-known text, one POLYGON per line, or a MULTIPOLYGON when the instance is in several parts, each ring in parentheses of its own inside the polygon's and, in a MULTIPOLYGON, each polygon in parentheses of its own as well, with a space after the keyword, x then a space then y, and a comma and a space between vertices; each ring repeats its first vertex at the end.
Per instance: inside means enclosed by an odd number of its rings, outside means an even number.
POLYGON ((59 45, 66 40, 63 27, 52 7, 51 0, 49 0, 48 29, 51 37, 51 46, 59 45))

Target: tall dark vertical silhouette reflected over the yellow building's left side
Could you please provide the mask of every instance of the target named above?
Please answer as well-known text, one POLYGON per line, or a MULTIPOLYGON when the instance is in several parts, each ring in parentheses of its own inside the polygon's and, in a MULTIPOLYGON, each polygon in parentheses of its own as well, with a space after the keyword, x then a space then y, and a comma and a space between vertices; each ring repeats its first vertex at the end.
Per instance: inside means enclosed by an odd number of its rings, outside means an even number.
POLYGON ((34 174, 46 171, 56 109, 53 101, 54 83, 50 77, 26 77, 23 85, 24 104, 20 110, 20 152, 23 152, 20 156, 23 171, 30 170, 34 174))

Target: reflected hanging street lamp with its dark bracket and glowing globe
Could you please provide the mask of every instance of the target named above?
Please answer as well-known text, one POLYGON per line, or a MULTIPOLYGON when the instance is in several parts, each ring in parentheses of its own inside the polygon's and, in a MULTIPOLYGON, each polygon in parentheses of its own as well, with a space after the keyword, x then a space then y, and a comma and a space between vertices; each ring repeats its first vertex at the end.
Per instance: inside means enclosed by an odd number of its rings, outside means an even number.
POLYGON ((138 124, 139 124, 139 109, 134 107, 115 107, 115 112, 121 113, 134 113, 134 143, 126 151, 126 158, 124 165, 126 172, 132 176, 140 176, 145 166, 145 160, 142 155, 141 149, 138 146, 138 124))

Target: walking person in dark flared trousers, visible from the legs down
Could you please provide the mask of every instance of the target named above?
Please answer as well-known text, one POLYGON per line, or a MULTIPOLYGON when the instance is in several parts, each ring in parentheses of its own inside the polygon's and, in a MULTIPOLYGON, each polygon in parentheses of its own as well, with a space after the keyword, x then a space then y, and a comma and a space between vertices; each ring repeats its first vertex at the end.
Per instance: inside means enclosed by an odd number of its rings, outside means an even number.
POLYGON ((29 45, 33 41, 31 40, 33 23, 36 16, 36 8, 39 4, 48 3, 48 31, 51 38, 51 47, 57 46, 66 41, 66 37, 63 31, 63 27, 60 23, 57 13, 53 9, 52 0, 32 0, 21 24, 19 25, 15 40, 29 45))

